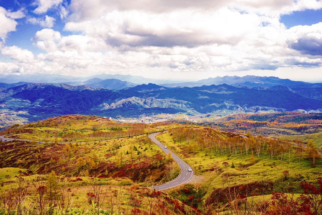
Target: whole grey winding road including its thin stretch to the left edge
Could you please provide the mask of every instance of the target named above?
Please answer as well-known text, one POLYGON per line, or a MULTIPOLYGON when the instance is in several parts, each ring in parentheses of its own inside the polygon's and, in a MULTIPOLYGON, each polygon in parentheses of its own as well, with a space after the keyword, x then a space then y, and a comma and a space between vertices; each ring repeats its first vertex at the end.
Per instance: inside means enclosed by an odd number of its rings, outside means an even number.
MULTIPOLYGON (((152 134, 149 135, 149 138, 152 140, 152 142, 154 142, 167 155, 169 155, 169 152, 171 152, 171 157, 173 158, 173 160, 180 167, 179 176, 177 178, 175 178, 174 180, 169 181, 169 182, 164 183, 164 184, 149 187, 149 188, 154 189, 154 190, 162 191, 162 190, 171 189, 171 188, 174 188, 174 187, 179 186, 181 184, 189 182, 192 179, 192 177, 194 176, 194 172, 193 171, 188 171, 188 168, 191 168, 191 167, 185 161, 183 161, 181 158, 179 158, 175 153, 170 151, 168 148, 165 148, 165 145, 163 145, 160 141, 158 141, 156 139, 156 135, 158 135, 160 133, 161 132, 152 133, 152 134)), ((2 141, 18 140, 18 141, 32 142, 31 140, 13 139, 13 138, 5 137, 5 136, 6 135, 1 135, 0 140, 2 140, 2 141)), ((127 138, 127 137, 122 137, 122 138, 127 138)), ((119 138, 117 138, 117 139, 119 139, 119 138)), ((113 139, 109 139, 109 140, 113 140, 113 139)), ((45 143, 45 142, 41 142, 41 141, 36 141, 36 142, 45 143)), ((85 142, 95 142, 95 141, 85 141, 85 142)), ((59 142, 59 143, 65 143, 66 144, 67 142, 59 142)))

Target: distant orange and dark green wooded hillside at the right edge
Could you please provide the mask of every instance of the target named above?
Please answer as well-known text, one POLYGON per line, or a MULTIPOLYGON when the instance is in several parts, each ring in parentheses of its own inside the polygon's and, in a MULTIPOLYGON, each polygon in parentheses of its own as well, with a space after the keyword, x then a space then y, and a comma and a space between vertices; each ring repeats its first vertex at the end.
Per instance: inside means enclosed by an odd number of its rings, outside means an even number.
POLYGON ((205 119, 202 124, 228 132, 281 136, 321 132, 321 122, 321 113, 277 112, 230 114, 213 122, 205 119))

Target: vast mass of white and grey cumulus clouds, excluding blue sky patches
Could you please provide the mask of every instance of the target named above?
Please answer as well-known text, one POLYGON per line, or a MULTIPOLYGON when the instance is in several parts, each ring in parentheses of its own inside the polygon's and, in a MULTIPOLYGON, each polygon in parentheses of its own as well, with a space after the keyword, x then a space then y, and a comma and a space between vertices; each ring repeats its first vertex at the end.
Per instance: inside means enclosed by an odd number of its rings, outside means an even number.
POLYGON ((279 20, 281 14, 319 9, 321 1, 72 0, 68 9, 57 0, 36 3, 38 14, 56 7, 72 34, 50 29, 53 21, 29 20, 45 27, 33 38, 44 52, 30 58, 32 64, 8 62, 10 71, 215 73, 312 68, 322 62, 321 24, 286 29, 279 20))

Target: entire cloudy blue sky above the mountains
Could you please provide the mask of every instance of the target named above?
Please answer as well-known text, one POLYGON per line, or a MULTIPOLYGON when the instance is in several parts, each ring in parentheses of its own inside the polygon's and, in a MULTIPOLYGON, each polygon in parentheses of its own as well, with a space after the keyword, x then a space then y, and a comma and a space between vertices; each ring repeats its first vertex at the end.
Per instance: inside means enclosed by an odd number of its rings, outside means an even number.
POLYGON ((322 82, 322 1, 0 0, 0 75, 322 82))

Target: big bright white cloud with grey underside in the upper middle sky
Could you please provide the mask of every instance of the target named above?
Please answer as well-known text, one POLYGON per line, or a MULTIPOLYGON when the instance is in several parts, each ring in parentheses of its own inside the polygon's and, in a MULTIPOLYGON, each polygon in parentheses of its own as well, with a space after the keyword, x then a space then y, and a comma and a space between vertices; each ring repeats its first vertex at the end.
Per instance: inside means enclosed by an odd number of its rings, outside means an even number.
POLYGON ((99 36, 116 46, 194 47, 236 44, 243 35, 252 34, 261 19, 255 14, 241 14, 228 8, 208 13, 192 10, 167 14, 113 11, 98 20, 69 22, 65 29, 99 36))

